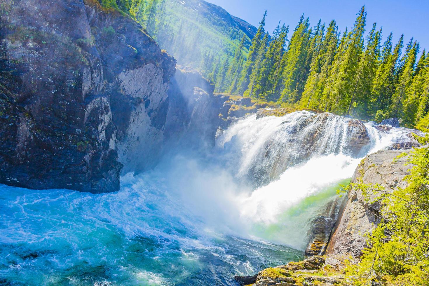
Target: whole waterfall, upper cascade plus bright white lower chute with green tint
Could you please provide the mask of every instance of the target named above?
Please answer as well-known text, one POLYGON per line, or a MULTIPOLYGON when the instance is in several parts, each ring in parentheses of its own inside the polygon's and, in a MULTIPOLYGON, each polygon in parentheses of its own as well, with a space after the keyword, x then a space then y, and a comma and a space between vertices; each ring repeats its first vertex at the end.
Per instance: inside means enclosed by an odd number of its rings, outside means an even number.
POLYGON ((347 184, 366 154, 413 141, 410 132, 298 111, 249 115, 225 130, 217 147, 233 162, 228 166, 236 177, 256 186, 239 203, 249 233, 303 249, 311 220, 335 197, 338 183, 347 184))

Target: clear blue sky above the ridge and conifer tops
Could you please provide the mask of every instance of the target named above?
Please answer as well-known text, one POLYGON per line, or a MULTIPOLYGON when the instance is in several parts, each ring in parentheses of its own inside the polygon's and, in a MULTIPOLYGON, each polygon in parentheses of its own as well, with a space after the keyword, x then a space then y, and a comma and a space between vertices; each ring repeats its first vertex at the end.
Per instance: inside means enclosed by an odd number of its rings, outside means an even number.
MULTIPOLYGON (((332 19, 344 31, 353 26, 356 13, 365 5, 367 15, 366 30, 377 21, 383 26, 385 37, 393 31, 393 41, 404 33, 405 42, 414 36, 420 42, 421 50, 429 49, 429 0, 207 0, 226 9, 230 14, 257 26, 263 12, 267 10, 266 30, 270 33, 278 21, 292 28, 296 26, 302 13, 310 18, 312 26, 319 18, 329 24, 332 19)), ((383 41, 384 41, 383 39, 383 41)))

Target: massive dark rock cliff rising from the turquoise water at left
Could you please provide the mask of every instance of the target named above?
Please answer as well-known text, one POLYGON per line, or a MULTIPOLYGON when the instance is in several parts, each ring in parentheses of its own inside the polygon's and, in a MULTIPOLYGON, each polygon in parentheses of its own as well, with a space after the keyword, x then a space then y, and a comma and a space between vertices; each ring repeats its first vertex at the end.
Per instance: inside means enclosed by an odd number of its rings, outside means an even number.
POLYGON ((121 170, 153 167, 201 113, 175 60, 97 0, 5 0, 0 16, 0 183, 118 190, 121 170))

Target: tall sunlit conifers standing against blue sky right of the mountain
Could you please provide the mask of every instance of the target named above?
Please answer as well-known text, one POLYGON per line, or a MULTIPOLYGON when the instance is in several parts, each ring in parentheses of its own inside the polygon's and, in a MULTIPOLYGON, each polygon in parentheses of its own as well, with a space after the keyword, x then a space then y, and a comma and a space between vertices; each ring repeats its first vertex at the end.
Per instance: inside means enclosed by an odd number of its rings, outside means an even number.
POLYGON ((365 7, 342 33, 335 20, 310 27, 302 16, 290 35, 279 25, 269 38, 265 17, 248 57, 237 49, 226 75, 218 75, 219 90, 363 119, 401 117, 410 125, 427 113, 426 51, 418 57, 420 45, 410 39, 402 52, 404 38, 395 41, 392 32, 382 43, 377 23, 364 38, 365 7))

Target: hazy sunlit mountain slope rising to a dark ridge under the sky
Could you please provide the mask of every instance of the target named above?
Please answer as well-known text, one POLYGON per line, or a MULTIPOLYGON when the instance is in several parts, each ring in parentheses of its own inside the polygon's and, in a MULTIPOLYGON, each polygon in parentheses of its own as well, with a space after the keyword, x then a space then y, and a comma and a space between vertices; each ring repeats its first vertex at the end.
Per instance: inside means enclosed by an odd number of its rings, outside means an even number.
POLYGON ((145 2, 139 10, 142 12, 136 14, 142 26, 179 64, 199 69, 208 77, 222 61, 233 57, 243 36, 243 52, 247 54, 257 30, 222 7, 202 0, 161 1, 151 17, 150 1, 145 2))

